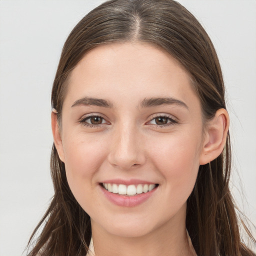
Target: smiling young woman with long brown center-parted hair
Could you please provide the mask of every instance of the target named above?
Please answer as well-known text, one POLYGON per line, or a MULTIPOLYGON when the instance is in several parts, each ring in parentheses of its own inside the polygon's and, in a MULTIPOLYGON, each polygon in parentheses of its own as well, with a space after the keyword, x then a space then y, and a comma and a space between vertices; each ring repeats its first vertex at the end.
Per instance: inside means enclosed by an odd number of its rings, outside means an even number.
POLYGON ((64 44, 51 120, 55 194, 29 256, 255 255, 228 188, 218 58, 179 3, 89 12, 64 44))

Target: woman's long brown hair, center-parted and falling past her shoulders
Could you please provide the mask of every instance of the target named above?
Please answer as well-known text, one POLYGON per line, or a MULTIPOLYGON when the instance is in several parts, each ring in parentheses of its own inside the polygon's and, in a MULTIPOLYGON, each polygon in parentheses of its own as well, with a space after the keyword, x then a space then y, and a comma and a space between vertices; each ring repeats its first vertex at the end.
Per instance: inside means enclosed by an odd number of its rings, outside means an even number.
MULTIPOLYGON (((51 95, 59 124, 72 69, 93 47, 116 41, 147 42, 176 58, 190 74, 206 120, 212 118, 217 109, 226 108, 215 49, 187 9, 173 0, 110 0, 83 17, 65 41, 51 95)), ((200 165, 187 200, 186 227, 197 255, 255 255, 241 242, 228 188, 230 160, 228 134, 223 152, 209 164, 200 165)), ((30 244, 42 226, 28 255, 85 255, 91 238, 90 217, 68 186, 65 165, 54 144, 50 167, 54 196, 31 235, 30 244)), ((247 234, 256 243, 249 231, 247 234)))

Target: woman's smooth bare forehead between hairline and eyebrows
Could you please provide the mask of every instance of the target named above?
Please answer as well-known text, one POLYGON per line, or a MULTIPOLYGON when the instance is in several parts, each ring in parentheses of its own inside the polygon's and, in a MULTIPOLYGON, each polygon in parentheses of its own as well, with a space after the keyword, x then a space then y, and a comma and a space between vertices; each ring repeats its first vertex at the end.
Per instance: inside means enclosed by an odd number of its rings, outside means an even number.
POLYGON ((164 50, 146 43, 112 43, 93 48, 78 62, 66 96, 71 101, 78 96, 114 100, 124 95, 191 101, 192 94, 197 99, 188 72, 164 50))

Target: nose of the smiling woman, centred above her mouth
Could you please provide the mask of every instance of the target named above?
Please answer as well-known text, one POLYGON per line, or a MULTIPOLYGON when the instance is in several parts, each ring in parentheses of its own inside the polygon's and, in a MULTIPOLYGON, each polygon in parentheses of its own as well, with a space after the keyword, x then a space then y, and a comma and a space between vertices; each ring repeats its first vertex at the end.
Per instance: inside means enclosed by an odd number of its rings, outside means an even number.
POLYGON ((108 161, 111 165, 128 170, 145 162, 142 134, 136 127, 120 125, 112 132, 108 161))

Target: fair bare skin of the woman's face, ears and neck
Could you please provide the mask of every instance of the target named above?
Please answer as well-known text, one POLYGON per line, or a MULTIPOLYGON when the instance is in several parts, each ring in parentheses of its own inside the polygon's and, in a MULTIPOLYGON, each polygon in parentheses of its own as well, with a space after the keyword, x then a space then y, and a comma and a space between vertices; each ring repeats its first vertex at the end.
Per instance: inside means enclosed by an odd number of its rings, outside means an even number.
POLYGON ((101 45, 76 65, 61 129, 52 112, 52 131, 70 189, 91 217, 97 256, 194 255, 186 236, 186 200, 199 165, 221 153, 229 123, 225 109, 202 120, 188 73, 158 48, 138 42, 101 45), (72 106, 83 97, 105 99, 110 107, 72 106), (155 97, 184 105, 141 106, 155 97), (90 114, 102 116, 102 123, 86 126, 90 114), (159 116, 167 123, 157 125, 159 116), (113 178, 159 185, 143 203, 117 206, 99 184, 113 178))

